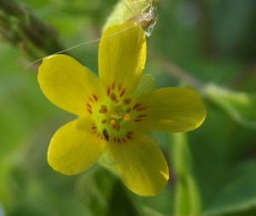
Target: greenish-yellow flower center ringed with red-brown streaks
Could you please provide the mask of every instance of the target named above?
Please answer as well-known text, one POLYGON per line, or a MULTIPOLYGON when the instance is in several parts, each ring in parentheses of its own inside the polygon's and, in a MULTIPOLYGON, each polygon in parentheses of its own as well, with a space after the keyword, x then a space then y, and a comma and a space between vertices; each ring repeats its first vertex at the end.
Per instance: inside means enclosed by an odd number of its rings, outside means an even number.
POLYGON ((132 139, 133 123, 141 122, 147 116, 143 113, 146 107, 134 104, 131 96, 125 94, 121 83, 116 88, 113 82, 106 93, 101 99, 91 95, 88 100, 87 111, 95 119, 92 134, 107 141, 125 143, 127 139, 132 139))

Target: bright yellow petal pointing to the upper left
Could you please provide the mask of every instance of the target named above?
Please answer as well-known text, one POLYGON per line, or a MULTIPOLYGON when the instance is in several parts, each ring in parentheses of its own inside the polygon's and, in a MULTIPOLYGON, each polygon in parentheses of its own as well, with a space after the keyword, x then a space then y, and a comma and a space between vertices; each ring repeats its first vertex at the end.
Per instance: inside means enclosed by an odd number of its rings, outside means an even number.
POLYGON ((44 95, 61 109, 83 117, 89 97, 99 99, 98 78, 72 57, 57 54, 45 58, 38 70, 44 95))

